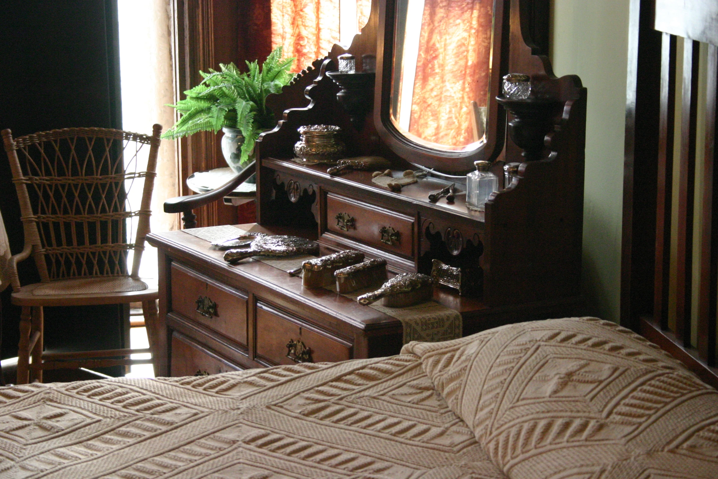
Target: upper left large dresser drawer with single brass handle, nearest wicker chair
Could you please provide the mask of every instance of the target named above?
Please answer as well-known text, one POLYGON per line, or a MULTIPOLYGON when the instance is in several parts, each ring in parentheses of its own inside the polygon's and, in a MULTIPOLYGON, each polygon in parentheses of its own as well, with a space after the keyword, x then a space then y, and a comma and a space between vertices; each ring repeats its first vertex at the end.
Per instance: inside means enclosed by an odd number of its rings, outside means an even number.
POLYGON ((180 264, 171 271, 171 310, 246 348, 247 295, 180 264))

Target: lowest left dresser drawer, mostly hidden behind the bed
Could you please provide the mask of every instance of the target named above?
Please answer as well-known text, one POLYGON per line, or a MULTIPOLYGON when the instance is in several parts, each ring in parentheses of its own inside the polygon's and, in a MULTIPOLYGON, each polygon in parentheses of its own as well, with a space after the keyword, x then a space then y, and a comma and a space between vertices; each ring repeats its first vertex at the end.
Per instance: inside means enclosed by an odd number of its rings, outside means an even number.
POLYGON ((206 376, 208 374, 228 373, 242 369, 176 331, 172 332, 172 345, 170 348, 172 361, 170 361, 169 375, 175 378, 181 376, 206 376))

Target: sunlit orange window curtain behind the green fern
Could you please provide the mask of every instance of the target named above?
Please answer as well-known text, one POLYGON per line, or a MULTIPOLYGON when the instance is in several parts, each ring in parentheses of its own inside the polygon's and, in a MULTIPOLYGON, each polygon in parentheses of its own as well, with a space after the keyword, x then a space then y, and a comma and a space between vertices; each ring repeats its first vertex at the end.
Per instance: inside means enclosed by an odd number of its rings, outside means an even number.
MULTIPOLYGON (((357 23, 364 26, 371 0, 357 1, 357 23)), ((293 72, 323 58, 339 42, 339 0, 271 0, 271 44, 296 57, 293 72)))

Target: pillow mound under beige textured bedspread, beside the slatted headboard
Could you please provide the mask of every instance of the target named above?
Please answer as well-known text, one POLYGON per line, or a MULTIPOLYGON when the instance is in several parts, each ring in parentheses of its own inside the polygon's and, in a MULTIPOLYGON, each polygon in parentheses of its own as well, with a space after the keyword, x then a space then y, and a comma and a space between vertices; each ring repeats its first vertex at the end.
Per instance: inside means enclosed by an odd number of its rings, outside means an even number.
POLYGON ((526 322, 402 353, 509 478, 718 478, 718 391, 615 323, 526 322))

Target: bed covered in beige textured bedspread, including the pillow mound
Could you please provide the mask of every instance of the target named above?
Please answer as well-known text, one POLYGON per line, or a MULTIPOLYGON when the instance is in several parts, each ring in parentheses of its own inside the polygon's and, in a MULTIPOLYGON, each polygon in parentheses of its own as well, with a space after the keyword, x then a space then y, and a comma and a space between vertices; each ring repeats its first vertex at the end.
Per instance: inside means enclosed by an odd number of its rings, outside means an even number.
POLYGON ((401 355, 0 389, 0 478, 718 478, 718 391, 595 318, 401 355))

